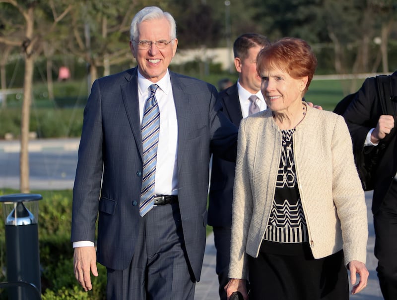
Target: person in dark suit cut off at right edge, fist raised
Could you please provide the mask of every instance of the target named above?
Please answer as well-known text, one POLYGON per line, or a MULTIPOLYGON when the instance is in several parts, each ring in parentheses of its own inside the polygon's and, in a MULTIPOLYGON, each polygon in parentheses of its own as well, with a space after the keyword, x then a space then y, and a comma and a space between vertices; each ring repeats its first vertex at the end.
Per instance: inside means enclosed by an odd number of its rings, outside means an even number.
MULTIPOLYGON (((390 75, 395 115, 383 115, 375 77, 367 78, 343 114, 353 140, 353 149, 376 147, 395 126, 397 71, 390 75)), ((389 100, 389 99, 387 99, 389 100)), ((397 137, 389 141, 375 174, 372 213, 378 278, 385 300, 397 299, 397 137)))

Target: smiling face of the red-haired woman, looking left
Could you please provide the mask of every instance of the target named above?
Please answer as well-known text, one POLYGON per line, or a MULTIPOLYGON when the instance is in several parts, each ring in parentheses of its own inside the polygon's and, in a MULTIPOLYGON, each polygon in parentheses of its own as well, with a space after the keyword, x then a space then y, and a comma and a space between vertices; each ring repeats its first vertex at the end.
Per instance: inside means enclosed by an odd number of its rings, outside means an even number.
POLYGON ((303 91, 308 77, 292 78, 285 71, 274 68, 265 69, 261 74, 261 91, 267 107, 275 112, 288 111, 294 105, 301 107, 303 91))

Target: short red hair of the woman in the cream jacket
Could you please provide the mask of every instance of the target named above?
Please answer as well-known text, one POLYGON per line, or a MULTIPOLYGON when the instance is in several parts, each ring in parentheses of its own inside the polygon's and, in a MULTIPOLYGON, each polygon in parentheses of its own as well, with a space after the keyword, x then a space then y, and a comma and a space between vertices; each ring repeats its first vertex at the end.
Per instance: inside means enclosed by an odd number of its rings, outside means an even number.
POLYGON ((257 57, 257 71, 261 76, 265 69, 281 69, 294 79, 308 77, 304 92, 309 88, 317 67, 317 58, 304 40, 283 38, 262 49, 257 57))

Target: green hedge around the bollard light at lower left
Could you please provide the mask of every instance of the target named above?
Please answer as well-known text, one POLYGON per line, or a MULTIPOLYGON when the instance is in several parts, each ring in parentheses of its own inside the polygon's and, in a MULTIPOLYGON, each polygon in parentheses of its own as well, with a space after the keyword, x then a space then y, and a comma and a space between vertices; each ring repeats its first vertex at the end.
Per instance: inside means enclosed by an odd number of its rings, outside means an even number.
MULTIPOLYGON (((4 189, 0 195, 18 194, 4 189)), ((93 290, 84 292, 73 274, 73 249, 70 243, 72 191, 32 191, 40 194, 39 201, 39 250, 41 288, 43 300, 105 300, 106 268, 98 264, 98 277, 91 276, 93 290)), ((2 205, 0 206, 2 216, 2 205)), ((0 225, 0 282, 6 281, 6 253, 4 222, 0 225)), ((7 292, 0 290, 0 300, 7 299, 7 292)))

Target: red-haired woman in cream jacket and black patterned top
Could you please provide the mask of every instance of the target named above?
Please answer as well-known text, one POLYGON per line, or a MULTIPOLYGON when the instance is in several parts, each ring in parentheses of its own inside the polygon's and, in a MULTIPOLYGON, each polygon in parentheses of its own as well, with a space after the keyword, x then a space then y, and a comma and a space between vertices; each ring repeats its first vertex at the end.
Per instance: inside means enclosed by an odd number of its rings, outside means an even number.
POLYGON ((343 117, 302 98, 317 66, 303 40, 261 50, 268 109, 239 129, 228 297, 348 300, 368 280, 364 192, 343 117))

